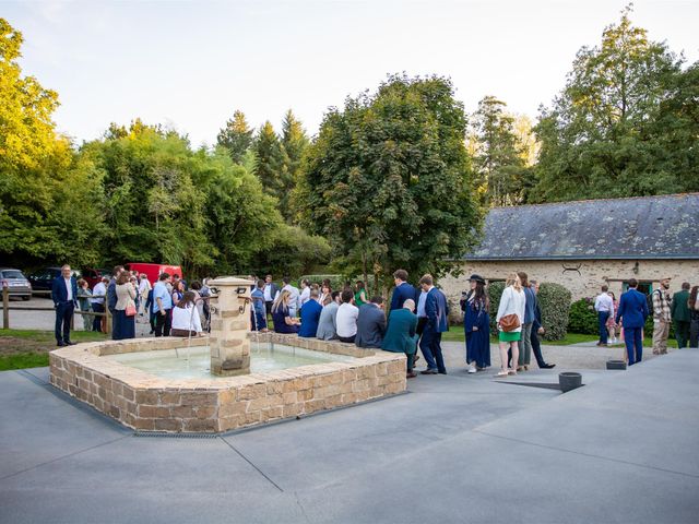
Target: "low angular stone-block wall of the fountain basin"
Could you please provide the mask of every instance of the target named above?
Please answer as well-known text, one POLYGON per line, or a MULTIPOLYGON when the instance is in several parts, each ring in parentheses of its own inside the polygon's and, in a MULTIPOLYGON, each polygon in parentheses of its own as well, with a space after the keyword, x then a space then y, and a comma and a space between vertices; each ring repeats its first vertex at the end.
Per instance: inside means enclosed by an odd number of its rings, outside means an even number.
MULTIPOLYGON (((406 389, 402 354, 296 335, 258 336, 260 344, 301 348, 327 361, 236 377, 163 377, 119 358, 176 348, 182 354, 186 338, 106 341, 51 352, 50 383, 125 426, 171 432, 229 431, 406 389)), ((194 342, 203 343, 204 338, 194 342)))

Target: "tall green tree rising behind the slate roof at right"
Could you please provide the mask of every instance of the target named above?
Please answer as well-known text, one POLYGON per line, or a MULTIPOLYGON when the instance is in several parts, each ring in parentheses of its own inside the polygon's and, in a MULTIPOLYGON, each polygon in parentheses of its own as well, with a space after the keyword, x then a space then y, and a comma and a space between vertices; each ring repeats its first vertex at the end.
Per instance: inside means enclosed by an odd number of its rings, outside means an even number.
POLYGON ((661 147, 668 130, 656 126, 662 104, 682 75, 682 59, 633 26, 630 12, 626 8, 619 23, 604 29, 600 46, 578 52, 566 87, 553 107, 542 109, 533 199, 687 189, 675 172, 674 157, 683 153, 661 147))

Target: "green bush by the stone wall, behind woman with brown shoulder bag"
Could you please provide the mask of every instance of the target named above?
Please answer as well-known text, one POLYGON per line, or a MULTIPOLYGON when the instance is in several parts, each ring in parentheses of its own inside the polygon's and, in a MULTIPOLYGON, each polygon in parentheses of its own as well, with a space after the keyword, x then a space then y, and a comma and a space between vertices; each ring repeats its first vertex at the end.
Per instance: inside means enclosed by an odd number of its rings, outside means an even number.
MULTIPOLYGON (((505 289, 503 282, 494 282, 488 286, 490 299, 490 332, 497 333, 496 317, 500 306, 500 297, 505 289)), ((568 310, 570 309, 570 291, 560 284, 543 283, 537 295, 542 309, 542 324, 547 341, 559 341, 566 337, 568 325, 568 310)))

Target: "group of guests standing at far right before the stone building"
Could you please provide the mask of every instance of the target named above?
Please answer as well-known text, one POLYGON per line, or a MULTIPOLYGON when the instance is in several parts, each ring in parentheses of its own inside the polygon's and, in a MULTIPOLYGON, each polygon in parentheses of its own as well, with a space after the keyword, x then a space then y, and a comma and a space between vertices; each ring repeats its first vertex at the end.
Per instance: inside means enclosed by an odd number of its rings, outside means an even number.
POLYGON ((653 317, 653 355, 667 354, 667 340, 674 324, 677 347, 699 347, 699 286, 684 282, 673 296, 670 294, 671 278, 661 278, 660 287, 650 295, 638 290, 639 282, 631 278, 628 290, 616 300, 608 286, 602 286, 595 298, 600 342, 607 346, 616 343, 616 334, 626 346, 629 366, 643 358, 643 329, 645 320, 653 317))

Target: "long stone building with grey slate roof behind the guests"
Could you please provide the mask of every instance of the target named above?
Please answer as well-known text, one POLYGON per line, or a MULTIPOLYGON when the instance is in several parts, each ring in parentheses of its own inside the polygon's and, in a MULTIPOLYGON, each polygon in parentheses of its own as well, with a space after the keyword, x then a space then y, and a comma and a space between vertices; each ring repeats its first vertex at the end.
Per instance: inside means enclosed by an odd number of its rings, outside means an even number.
POLYGON ((493 282, 524 271, 566 286, 573 300, 603 284, 618 297, 631 277, 645 293, 666 276, 673 291, 699 285, 699 193, 495 207, 462 269, 440 281, 452 303, 472 273, 493 282))

